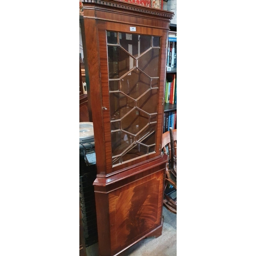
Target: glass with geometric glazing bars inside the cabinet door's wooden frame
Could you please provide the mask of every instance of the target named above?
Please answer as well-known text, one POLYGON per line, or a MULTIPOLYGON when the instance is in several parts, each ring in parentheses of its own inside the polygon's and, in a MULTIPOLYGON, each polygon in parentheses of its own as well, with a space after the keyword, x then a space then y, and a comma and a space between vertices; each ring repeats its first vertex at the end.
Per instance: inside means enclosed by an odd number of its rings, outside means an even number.
POLYGON ((112 166, 158 153, 160 36, 107 31, 112 166))

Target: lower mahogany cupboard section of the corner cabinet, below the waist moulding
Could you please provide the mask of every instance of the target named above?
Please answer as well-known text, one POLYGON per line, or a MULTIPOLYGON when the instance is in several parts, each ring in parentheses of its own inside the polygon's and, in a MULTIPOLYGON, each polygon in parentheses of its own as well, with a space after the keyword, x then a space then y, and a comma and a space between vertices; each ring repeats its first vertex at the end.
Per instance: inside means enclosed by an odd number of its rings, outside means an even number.
POLYGON ((95 186, 99 255, 117 255, 151 233, 160 236, 163 183, 161 169, 105 193, 95 186))

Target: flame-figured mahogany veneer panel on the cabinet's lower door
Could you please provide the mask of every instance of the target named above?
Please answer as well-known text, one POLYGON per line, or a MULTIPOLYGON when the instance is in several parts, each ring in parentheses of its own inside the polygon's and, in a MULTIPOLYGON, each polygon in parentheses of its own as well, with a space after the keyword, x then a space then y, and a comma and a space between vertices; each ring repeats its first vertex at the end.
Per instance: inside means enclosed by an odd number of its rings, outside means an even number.
POLYGON ((121 187, 109 195, 111 244, 117 252, 161 224, 163 173, 121 187), (160 195, 160 198, 159 198, 160 195))

